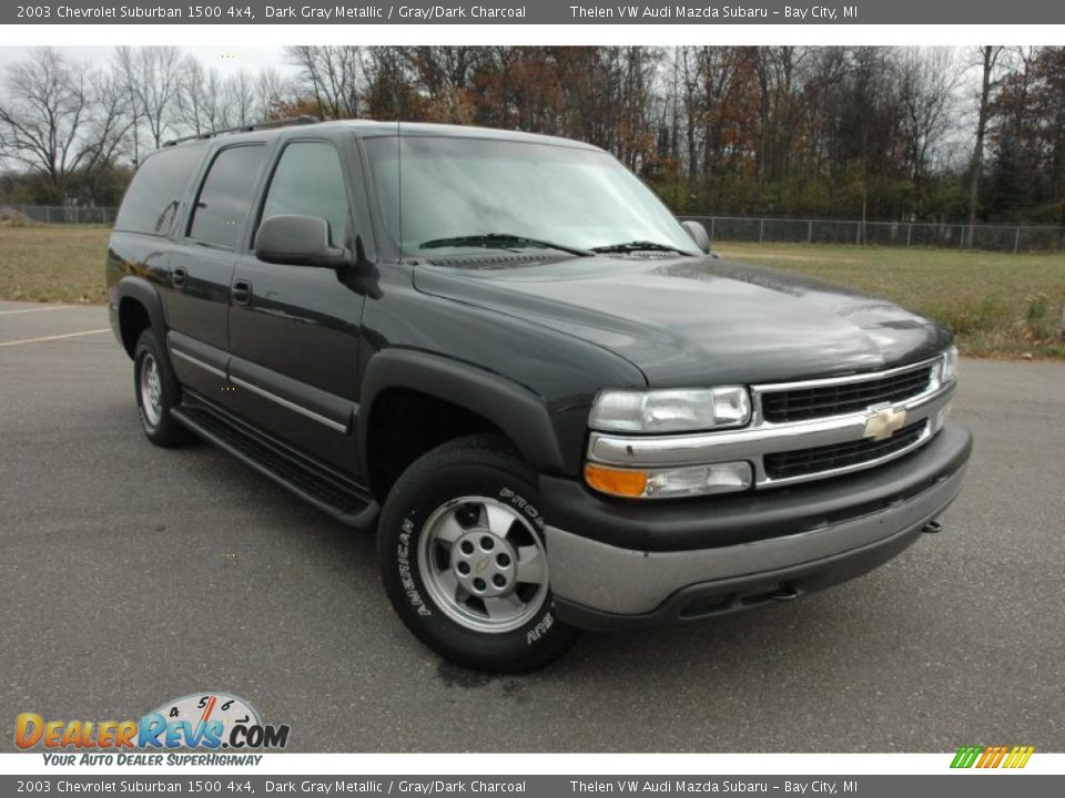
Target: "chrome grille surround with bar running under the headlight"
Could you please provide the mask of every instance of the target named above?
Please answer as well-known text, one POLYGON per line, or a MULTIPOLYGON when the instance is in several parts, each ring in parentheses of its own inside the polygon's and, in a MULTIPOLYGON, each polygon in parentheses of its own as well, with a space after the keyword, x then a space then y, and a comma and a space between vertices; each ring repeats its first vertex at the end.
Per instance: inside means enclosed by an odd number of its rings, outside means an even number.
MULTIPOLYGON (((905 409, 906 426, 925 419, 930 420, 925 431, 911 446, 876 460, 869 460, 840 469, 818 471, 785 479, 771 479, 765 473, 762 458, 773 452, 798 451, 821 446, 861 441, 865 438, 865 422, 868 420, 868 412, 865 411, 788 423, 755 421, 754 426, 747 429, 696 434, 618 436, 592 432, 588 441, 588 460, 604 466, 621 468, 669 468, 747 460, 754 468, 754 484, 759 488, 774 488, 825 479, 874 468, 900 458, 925 443, 937 431, 934 424, 936 415, 953 399, 955 386, 954 382, 945 387, 937 386, 932 391, 893 406, 905 409)), ((758 392, 758 389, 755 389, 755 395, 758 392)), ((758 407, 758 402, 755 402, 755 406, 758 407)))

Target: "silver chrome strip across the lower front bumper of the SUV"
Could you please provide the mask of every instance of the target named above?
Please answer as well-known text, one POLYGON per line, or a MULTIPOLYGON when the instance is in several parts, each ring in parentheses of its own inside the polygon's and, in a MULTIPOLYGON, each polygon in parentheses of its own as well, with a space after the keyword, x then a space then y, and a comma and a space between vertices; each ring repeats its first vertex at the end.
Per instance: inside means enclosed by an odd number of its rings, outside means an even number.
POLYGON ((851 521, 785 538, 697 551, 619 549, 554 526, 546 530, 555 595, 616 615, 653 612, 683 587, 757 576, 859 550, 923 526, 954 501, 962 468, 909 501, 851 521))

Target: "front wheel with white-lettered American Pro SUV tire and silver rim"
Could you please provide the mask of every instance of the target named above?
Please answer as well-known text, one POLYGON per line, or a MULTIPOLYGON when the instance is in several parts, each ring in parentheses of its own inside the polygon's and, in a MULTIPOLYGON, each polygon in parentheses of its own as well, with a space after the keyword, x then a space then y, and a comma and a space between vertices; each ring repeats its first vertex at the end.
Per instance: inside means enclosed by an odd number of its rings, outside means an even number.
POLYGON ((561 656, 535 475, 495 436, 416 460, 382 510, 382 580, 404 624, 465 667, 518 673, 561 656))

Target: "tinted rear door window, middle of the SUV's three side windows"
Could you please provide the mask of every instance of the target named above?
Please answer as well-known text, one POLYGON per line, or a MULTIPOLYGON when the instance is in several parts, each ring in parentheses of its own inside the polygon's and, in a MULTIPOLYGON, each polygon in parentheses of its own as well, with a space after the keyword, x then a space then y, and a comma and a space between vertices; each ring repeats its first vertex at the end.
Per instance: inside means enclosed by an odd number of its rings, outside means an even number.
POLYGON ((236 247, 252 209, 252 194, 265 152, 261 144, 252 144, 229 147, 214 156, 192 212, 190 238, 236 247))

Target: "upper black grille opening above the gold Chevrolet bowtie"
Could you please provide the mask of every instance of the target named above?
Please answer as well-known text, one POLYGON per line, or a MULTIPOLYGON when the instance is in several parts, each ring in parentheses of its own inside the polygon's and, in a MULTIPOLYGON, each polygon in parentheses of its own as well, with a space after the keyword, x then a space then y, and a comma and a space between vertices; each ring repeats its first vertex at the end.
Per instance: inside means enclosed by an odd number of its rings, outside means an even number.
POLYGON ((783 423, 855 412, 923 393, 931 380, 932 366, 924 366, 879 379, 769 391, 762 393, 762 418, 783 423))

